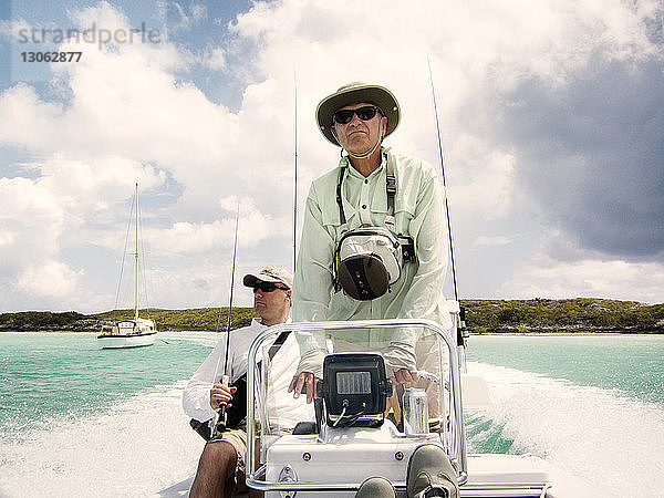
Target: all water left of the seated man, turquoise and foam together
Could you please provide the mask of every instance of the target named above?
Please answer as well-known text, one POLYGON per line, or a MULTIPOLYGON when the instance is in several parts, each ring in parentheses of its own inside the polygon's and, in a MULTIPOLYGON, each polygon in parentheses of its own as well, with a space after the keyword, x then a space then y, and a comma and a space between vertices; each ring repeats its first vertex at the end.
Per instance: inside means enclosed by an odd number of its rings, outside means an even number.
POLYGON ((219 335, 159 338, 0 333, 0 498, 183 496, 203 439, 181 392, 219 335))

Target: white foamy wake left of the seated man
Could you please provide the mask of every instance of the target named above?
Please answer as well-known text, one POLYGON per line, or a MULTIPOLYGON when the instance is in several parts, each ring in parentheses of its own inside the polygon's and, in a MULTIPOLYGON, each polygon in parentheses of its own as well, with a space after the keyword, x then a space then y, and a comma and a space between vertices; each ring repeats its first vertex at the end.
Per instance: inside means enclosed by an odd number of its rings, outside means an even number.
POLYGON ((204 446, 181 409, 183 387, 158 386, 106 414, 1 443, 0 496, 177 496, 158 491, 190 478, 204 446))

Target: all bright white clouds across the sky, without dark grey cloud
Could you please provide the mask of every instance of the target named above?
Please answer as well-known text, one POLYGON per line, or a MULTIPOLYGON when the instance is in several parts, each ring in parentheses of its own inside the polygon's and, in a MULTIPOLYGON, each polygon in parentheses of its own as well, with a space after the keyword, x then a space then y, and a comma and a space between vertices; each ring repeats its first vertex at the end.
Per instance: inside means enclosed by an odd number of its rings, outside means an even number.
MULTIPOLYGON (((172 8, 179 9, 183 30, 207 19, 201 4, 172 8)), ((564 85, 570 74, 587 70, 591 54, 640 60, 656 50, 641 24, 644 17, 654 15, 655 0, 636 7, 620 0, 432 0, 416 9, 385 0, 380 19, 375 8, 375 2, 350 0, 255 2, 231 28, 231 43, 191 50, 167 42, 116 44, 102 51, 68 43, 68 50, 83 50, 83 58, 76 64, 53 65, 50 91, 38 93, 20 83, 0 95, 0 143, 31 154, 33 159, 23 167, 34 178, 0 180, 0 252, 8 257, 3 281, 15 283, 23 276, 22 289, 34 290, 35 269, 48 261, 53 280, 83 282, 90 272, 64 263, 63 255, 90 241, 115 248, 125 214, 111 211, 138 179, 142 189, 170 196, 152 211, 154 224, 145 230, 152 251, 164 263, 155 283, 163 300, 157 305, 221 301, 229 268, 218 258, 222 255, 228 262, 238 197, 241 264, 251 270, 255 263, 290 260, 293 69, 302 214, 311 179, 333 167, 338 157, 318 133, 313 111, 323 95, 349 81, 375 81, 392 89, 402 104, 403 122, 388 144, 437 163, 427 54, 453 212, 468 225, 468 232, 479 234, 470 242, 473 249, 508 246, 512 238, 525 237, 513 226, 523 206, 515 179, 523 159, 511 144, 496 146, 487 136, 495 134, 496 122, 484 104, 528 77, 551 87, 564 85), (194 66, 210 71, 203 77, 218 72, 234 79, 243 89, 239 110, 230 111, 210 96, 225 87, 204 93, 204 85, 194 80, 194 66), (477 229, 481 224, 509 226, 510 236, 483 235, 489 231, 477 229)), ((108 2, 72 15, 81 28, 96 22, 128 29, 132 22, 108 2)), ((1 25, 0 31, 9 35, 10 28, 1 25)), ((528 234, 530 245, 536 237, 528 234)), ((515 297, 547 289, 568 295, 570 289, 584 292, 588 284, 589 292, 633 292, 635 298, 662 288, 655 277, 660 267, 621 267, 620 261, 585 256, 567 266, 533 260, 504 290, 515 297), (538 273, 538 264, 557 271, 538 273), (609 270, 623 276, 622 286, 611 283, 609 270), (636 277, 646 277, 647 286, 631 280, 636 277)), ((481 287, 480 272, 488 264, 495 261, 478 261, 470 277, 480 294, 495 290, 481 287)), ((75 287, 58 289, 66 308, 74 298, 68 301, 64 295, 75 287)), ((96 304, 102 298, 86 301, 96 304)))

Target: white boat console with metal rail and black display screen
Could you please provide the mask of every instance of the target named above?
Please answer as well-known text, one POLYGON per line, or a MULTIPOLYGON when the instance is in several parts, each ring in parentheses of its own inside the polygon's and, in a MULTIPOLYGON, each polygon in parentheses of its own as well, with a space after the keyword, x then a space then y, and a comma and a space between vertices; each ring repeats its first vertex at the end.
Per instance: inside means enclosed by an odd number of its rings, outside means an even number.
MULTIPOLYGON (((427 320, 287 323, 266 330, 249 350, 247 440, 255 447, 247 452, 248 486, 267 497, 354 497, 367 478, 381 476, 406 497, 413 455, 435 445, 452 464, 458 496, 559 496, 541 459, 467 456, 456 336, 456 329, 427 320), (277 390, 270 377, 267 352, 287 331, 300 339, 324 336, 329 354, 313 404, 277 390), (418 378, 396 384, 384 353, 403 334, 418 338, 418 378)), ((294 356, 293 373, 300 361, 294 356)))

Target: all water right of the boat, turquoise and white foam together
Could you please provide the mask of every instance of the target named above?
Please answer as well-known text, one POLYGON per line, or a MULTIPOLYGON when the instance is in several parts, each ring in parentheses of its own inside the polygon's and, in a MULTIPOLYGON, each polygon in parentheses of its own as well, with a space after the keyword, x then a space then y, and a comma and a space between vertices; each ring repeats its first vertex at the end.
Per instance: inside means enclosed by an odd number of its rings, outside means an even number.
POLYGON ((473 336, 469 453, 533 454, 603 497, 662 497, 664 336, 473 336))

